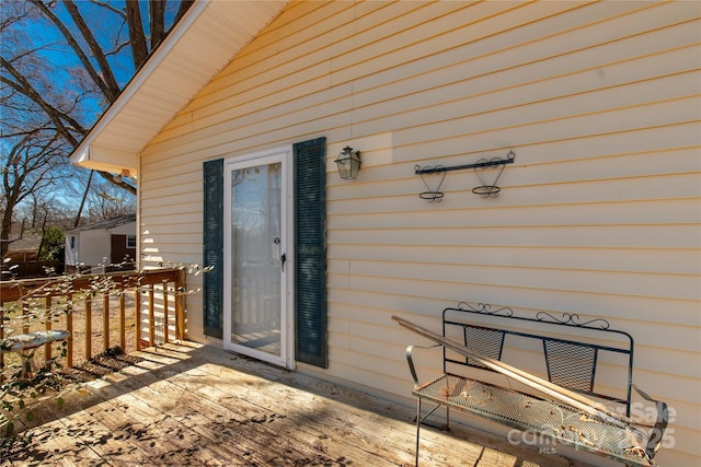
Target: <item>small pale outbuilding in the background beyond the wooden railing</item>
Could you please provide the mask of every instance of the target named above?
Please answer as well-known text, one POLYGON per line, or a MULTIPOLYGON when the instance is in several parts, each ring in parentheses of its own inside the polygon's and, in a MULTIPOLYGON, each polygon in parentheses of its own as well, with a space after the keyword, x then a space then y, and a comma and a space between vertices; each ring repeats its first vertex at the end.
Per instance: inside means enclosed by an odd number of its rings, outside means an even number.
POLYGON ((105 272, 134 269, 136 214, 66 231, 66 270, 105 272))

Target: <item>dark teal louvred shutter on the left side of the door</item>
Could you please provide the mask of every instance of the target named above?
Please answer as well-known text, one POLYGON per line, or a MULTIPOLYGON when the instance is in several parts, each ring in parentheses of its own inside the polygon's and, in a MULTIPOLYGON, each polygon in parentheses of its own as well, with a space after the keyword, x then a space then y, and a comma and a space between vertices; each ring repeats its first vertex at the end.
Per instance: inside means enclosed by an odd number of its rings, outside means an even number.
POLYGON ((222 338, 223 318, 223 159, 204 164, 203 276, 205 336, 222 338))

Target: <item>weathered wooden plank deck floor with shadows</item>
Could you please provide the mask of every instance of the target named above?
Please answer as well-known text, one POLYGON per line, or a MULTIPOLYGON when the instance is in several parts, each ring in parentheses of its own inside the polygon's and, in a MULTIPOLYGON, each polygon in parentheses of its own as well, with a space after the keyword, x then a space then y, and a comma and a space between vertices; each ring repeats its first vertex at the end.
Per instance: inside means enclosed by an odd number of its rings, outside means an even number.
MULTIPOLYGON (((166 345, 42 405, 7 465, 414 463, 414 411, 211 347, 166 345)), ((407 388, 409 390, 409 388, 407 388)), ((572 466, 482 433, 422 430, 423 466, 572 466)))

